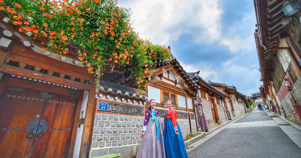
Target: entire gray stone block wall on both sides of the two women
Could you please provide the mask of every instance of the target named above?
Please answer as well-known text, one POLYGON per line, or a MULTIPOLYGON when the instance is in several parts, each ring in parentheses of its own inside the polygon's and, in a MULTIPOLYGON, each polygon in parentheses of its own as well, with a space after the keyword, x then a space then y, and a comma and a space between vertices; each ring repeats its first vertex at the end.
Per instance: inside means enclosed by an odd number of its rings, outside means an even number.
MULTIPOLYGON (((141 142, 144 117, 95 113, 90 157, 121 153, 121 157, 134 157, 141 142)), ((164 125, 164 118, 161 118, 164 125)), ((185 138, 190 134, 188 119, 177 119, 185 138)), ((191 120, 193 133, 197 132, 191 120)))

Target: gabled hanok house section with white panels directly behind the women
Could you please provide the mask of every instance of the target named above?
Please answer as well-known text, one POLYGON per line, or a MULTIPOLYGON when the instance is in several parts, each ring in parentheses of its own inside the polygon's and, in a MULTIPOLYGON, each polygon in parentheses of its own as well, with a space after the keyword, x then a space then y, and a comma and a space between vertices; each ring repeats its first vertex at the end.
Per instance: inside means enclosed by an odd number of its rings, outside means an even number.
POLYGON ((172 57, 172 61, 157 62, 153 65, 154 70, 147 74, 147 97, 148 100, 156 100, 157 110, 163 118, 168 109, 166 101, 172 100, 177 112, 177 122, 185 138, 198 131, 195 119, 194 97, 198 86, 191 80, 183 67, 172 57))

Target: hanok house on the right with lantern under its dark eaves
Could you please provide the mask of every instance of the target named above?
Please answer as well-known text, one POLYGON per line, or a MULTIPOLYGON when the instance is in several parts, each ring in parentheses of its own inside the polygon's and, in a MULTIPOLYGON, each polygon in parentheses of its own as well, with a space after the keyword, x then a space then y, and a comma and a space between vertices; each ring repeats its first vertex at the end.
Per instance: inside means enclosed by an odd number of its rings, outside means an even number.
POLYGON ((301 13, 291 7, 293 4, 300 8, 297 0, 254 0, 254 37, 267 99, 273 101, 279 114, 301 125, 300 106, 293 103, 293 98, 301 103, 301 13))

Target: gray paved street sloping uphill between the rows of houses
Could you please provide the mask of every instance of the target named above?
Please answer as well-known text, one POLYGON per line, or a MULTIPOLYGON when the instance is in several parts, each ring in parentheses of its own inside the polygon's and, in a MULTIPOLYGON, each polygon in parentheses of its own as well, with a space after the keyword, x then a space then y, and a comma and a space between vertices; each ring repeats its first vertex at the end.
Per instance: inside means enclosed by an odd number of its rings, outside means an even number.
POLYGON ((188 157, 198 158, 300 158, 301 132, 284 124, 287 123, 277 117, 271 118, 254 110, 189 145, 193 149, 189 149, 187 154, 188 157))

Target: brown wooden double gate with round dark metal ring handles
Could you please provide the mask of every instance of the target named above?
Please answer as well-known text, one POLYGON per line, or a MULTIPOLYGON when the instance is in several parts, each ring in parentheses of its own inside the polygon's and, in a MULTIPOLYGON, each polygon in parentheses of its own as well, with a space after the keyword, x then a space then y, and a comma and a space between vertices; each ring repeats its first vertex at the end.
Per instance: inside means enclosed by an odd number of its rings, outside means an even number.
POLYGON ((67 157, 77 102, 77 97, 6 86, 0 98, 0 157, 67 157))

